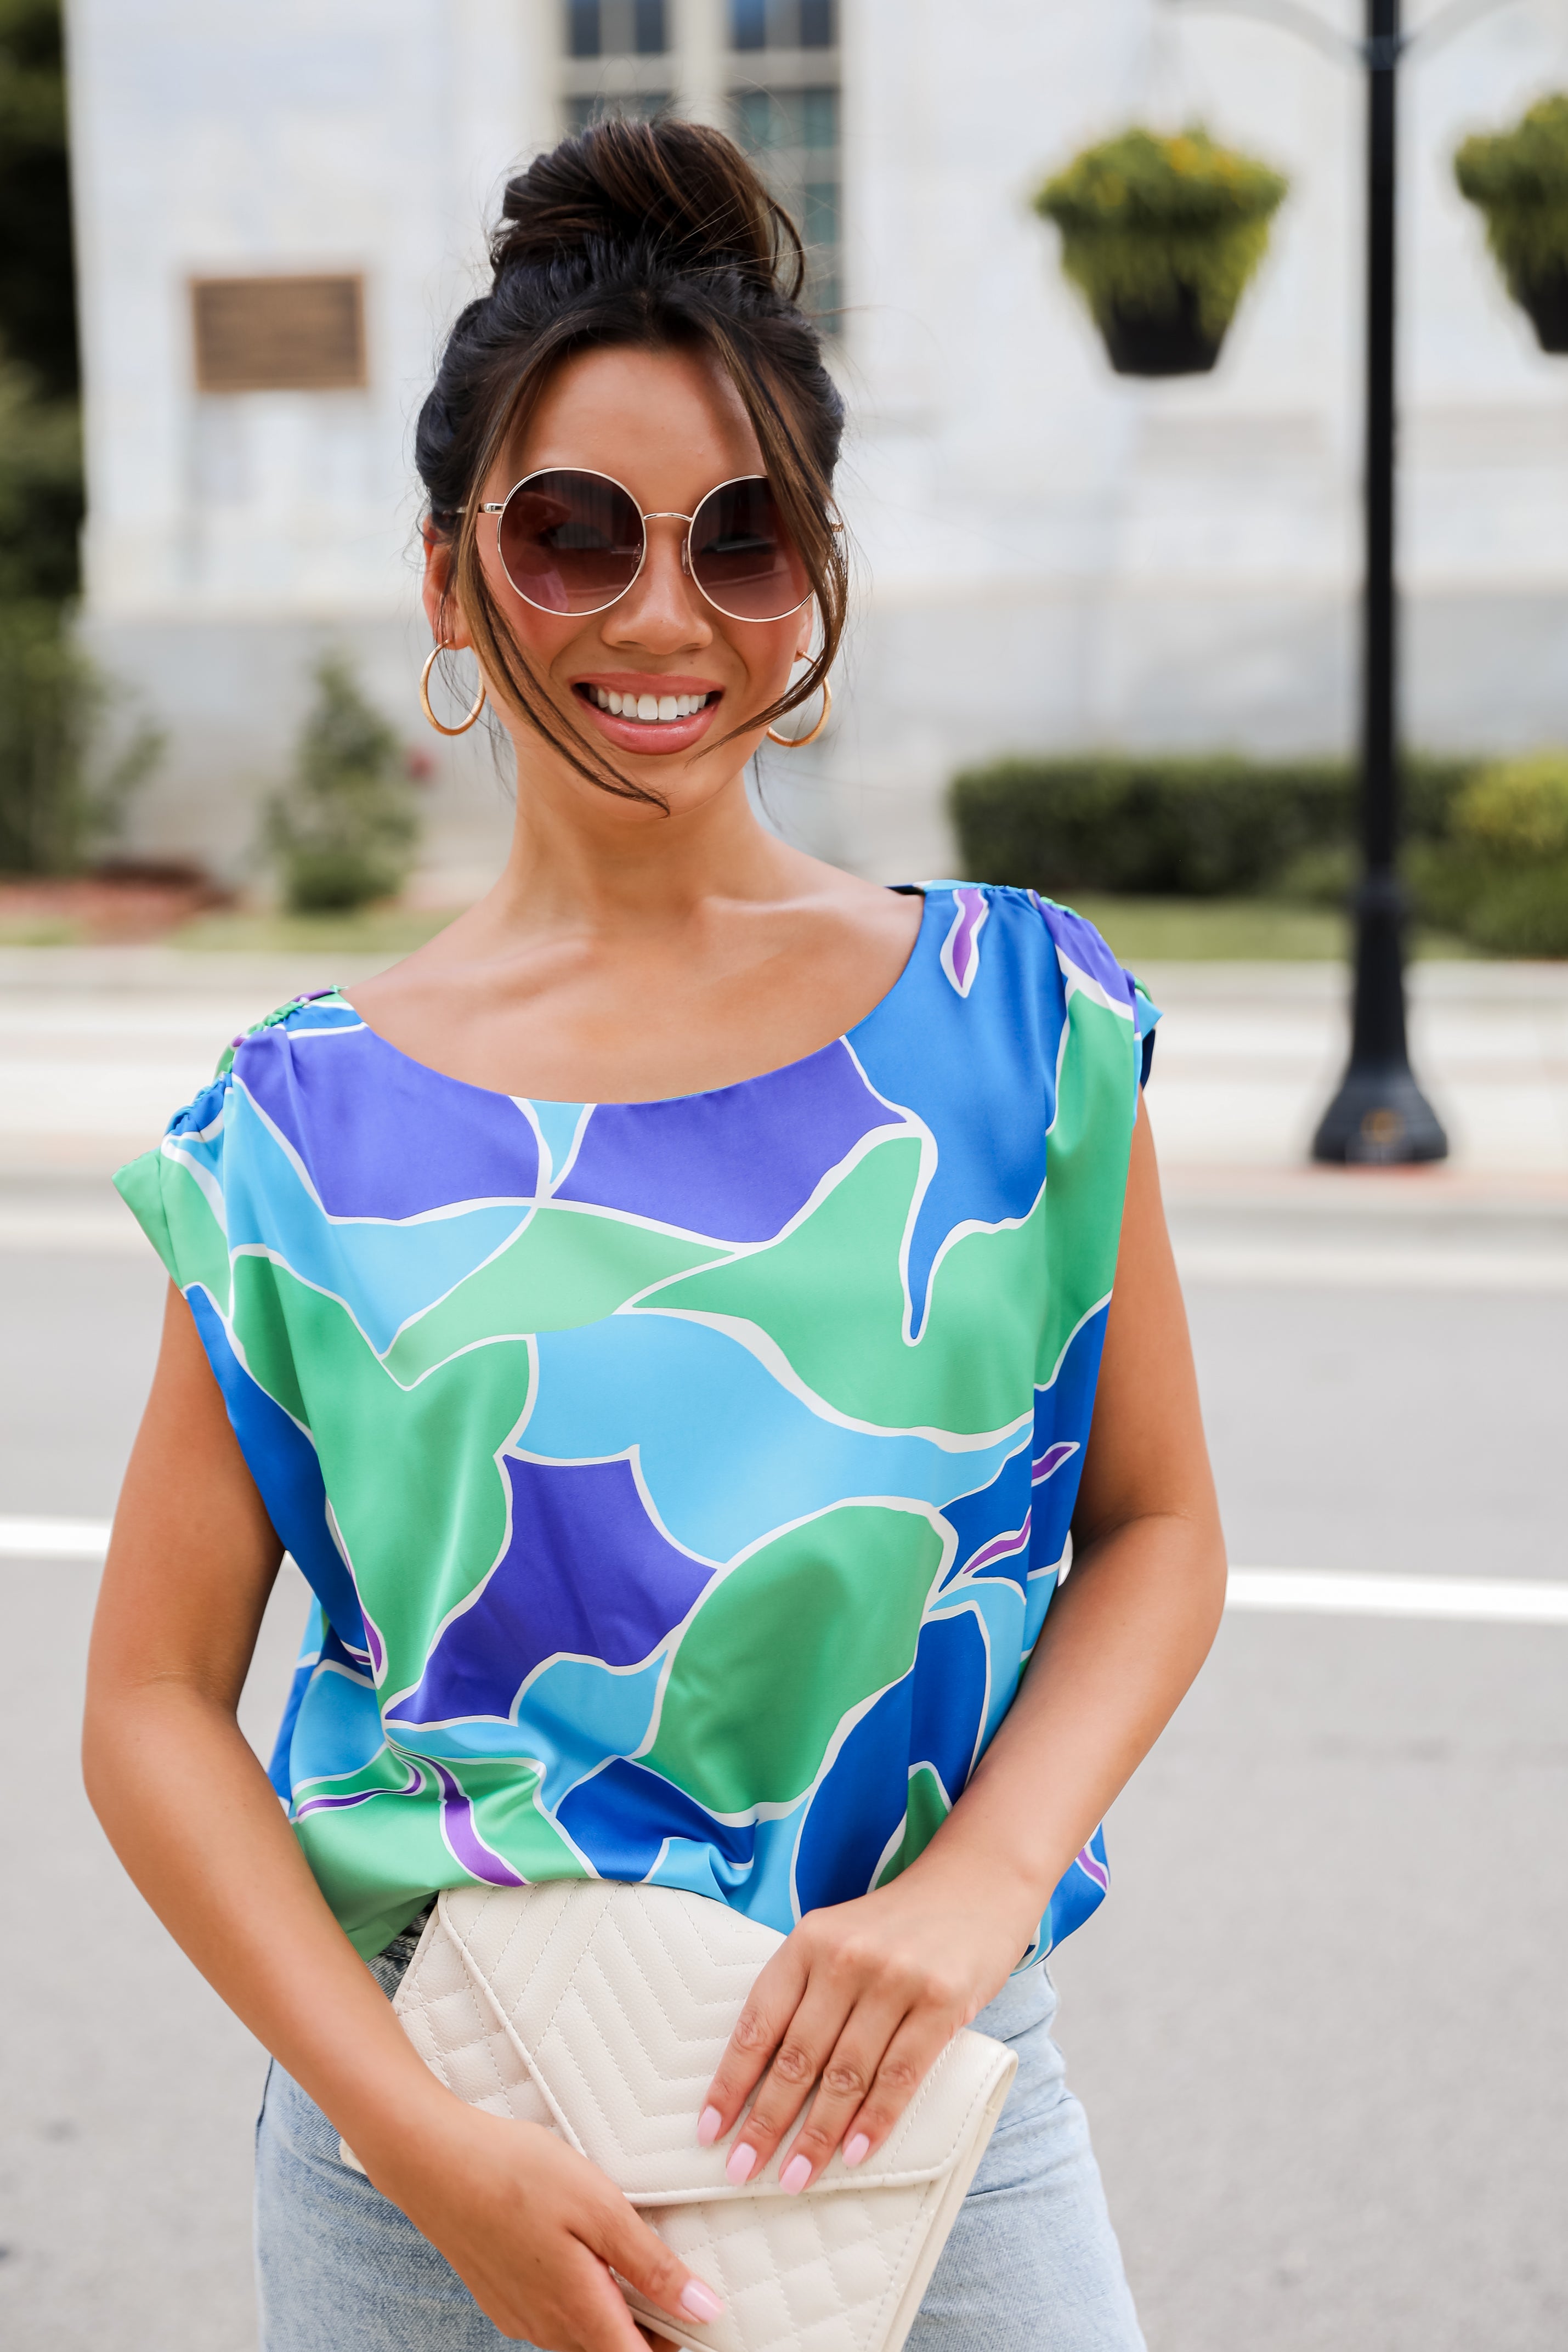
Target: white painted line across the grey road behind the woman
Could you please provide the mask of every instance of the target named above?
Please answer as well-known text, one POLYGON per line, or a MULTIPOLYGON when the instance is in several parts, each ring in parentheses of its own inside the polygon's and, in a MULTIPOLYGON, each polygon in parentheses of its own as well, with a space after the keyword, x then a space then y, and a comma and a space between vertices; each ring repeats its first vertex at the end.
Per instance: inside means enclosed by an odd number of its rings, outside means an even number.
MULTIPOLYGON (((0 1519, 0 1559, 103 1559, 108 1519, 0 1519)), ((1340 1569, 1232 1569, 1227 1609, 1305 1616, 1568 1625, 1568 1583, 1544 1576, 1352 1576, 1340 1569)))

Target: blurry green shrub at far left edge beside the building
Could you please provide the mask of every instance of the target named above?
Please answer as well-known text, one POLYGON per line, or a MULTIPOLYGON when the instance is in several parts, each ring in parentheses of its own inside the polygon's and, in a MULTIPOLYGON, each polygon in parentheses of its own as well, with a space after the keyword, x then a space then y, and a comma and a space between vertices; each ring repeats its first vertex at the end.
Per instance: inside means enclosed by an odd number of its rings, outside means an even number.
POLYGON ((85 866, 160 750, 78 644, 66 607, 0 604, 0 873, 85 866))

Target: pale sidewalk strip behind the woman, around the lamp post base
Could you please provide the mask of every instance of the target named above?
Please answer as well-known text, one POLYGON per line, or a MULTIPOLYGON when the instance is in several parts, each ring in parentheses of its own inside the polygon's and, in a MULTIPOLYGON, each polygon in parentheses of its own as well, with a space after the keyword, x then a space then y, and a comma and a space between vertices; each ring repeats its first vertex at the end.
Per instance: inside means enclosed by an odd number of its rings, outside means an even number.
MULTIPOLYGON (((106 1178, 228 1040, 374 957, 0 950, 0 1242, 134 1247, 106 1178)), ((1410 1051, 1453 1157, 1314 1169, 1345 1061, 1333 964, 1157 964, 1150 1082, 1171 1223, 1206 1279, 1568 1287, 1568 964, 1425 962, 1410 1051), (1335 1272, 1338 1268, 1338 1272, 1335 1272)))

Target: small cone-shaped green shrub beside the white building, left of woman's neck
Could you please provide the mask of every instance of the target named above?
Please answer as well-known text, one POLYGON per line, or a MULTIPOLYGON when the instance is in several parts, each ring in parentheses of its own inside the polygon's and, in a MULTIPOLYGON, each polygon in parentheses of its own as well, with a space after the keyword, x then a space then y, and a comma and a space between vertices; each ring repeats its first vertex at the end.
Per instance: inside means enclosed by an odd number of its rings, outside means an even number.
POLYGON ((268 802, 263 840, 296 915, 390 898, 409 875, 418 818, 404 750, 341 654, 315 666, 294 779, 268 802))

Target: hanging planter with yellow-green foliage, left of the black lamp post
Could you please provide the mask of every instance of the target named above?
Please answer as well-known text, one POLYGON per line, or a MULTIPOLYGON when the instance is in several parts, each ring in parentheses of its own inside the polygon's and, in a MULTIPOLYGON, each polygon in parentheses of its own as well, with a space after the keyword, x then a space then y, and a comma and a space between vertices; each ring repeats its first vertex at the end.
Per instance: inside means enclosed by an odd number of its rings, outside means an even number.
POLYGON ((1119 376, 1201 376, 1269 242, 1288 181, 1206 132, 1131 129, 1034 195, 1119 376))

